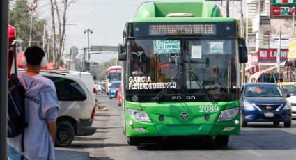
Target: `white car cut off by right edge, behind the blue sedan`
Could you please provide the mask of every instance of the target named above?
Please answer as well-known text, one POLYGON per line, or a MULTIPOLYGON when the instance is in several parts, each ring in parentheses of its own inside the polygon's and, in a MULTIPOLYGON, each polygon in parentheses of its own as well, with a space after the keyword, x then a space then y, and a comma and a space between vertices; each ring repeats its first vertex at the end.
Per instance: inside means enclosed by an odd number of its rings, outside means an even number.
POLYGON ((283 93, 290 94, 287 100, 292 107, 292 118, 296 118, 296 83, 295 82, 282 82, 278 83, 283 93))

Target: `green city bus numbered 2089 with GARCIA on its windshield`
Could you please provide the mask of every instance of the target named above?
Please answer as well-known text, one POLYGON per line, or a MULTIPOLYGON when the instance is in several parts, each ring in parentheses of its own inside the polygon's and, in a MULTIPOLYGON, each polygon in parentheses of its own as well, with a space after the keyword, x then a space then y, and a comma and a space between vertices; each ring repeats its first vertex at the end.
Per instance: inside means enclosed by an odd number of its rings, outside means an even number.
POLYGON ((123 127, 129 145, 150 138, 240 133, 240 63, 247 47, 237 21, 212 2, 147 2, 127 22, 123 127))

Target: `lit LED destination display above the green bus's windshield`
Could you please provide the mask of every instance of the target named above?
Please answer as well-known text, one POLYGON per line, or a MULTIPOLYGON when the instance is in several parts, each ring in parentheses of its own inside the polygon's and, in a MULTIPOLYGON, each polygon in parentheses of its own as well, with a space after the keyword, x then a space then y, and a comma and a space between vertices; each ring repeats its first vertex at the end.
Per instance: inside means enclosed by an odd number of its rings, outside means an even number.
POLYGON ((215 35, 215 24, 149 25, 149 35, 215 35))

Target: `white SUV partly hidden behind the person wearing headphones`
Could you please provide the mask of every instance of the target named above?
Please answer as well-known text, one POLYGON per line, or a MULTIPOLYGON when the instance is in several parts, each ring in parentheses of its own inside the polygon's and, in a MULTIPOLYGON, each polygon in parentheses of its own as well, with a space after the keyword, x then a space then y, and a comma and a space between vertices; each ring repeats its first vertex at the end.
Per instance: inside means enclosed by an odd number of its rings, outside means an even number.
POLYGON ((54 82, 56 95, 60 104, 56 120, 55 145, 68 146, 76 136, 88 136, 95 133, 91 127, 95 117, 95 105, 92 93, 77 77, 65 74, 41 72, 54 82))

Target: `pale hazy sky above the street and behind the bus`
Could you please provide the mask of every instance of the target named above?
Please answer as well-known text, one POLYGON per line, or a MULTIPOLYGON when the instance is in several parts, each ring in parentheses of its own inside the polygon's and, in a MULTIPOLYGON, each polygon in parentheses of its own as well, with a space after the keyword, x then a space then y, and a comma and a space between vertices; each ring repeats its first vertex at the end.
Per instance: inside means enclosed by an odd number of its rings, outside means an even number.
MULTIPOLYGON (((50 19, 49 0, 39 0, 39 13, 42 17, 50 19)), ((84 30, 91 29, 89 41, 91 45, 117 46, 122 42, 122 33, 125 23, 134 17, 137 7, 147 0, 78 0, 70 4, 67 13, 66 39, 64 54, 70 52, 70 47, 75 46, 82 54, 84 47, 87 47, 88 39, 84 30)), ((161 1, 182 1, 182 0, 161 0, 161 1)), ((187 0, 193 1, 193 0, 187 0)), ((195 0, 196 1, 196 0, 195 0)), ((245 6, 243 0, 243 5, 245 6)), ((222 14, 226 15, 226 2, 216 2, 221 8, 222 14)), ((230 2, 230 17, 240 18, 240 2, 230 2)), ((243 12, 246 8, 243 7, 243 12)), ((48 22, 48 27, 51 22, 48 22)), ((91 55, 93 61, 108 61, 116 58, 115 53, 91 55)))

